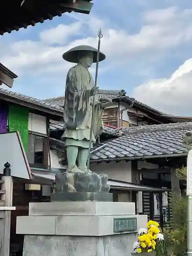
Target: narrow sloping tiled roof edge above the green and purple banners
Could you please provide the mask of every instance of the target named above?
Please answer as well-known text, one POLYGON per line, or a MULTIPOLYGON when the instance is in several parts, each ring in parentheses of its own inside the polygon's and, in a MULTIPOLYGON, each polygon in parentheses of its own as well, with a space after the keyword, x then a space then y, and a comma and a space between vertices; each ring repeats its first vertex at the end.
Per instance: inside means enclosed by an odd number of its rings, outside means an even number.
POLYGON ((23 94, 15 93, 15 92, 12 92, 12 91, 9 91, 9 90, 5 90, 3 88, 0 89, 0 94, 8 96, 9 98, 15 98, 17 100, 22 100, 22 101, 25 101, 25 102, 28 102, 28 103, 33 103, 35 105, 42 106, 43 108, 46 108, 46 109, 49 109, 49 110, 54 110, 54 111, 60 112, 60 113, 63 112, 63 108, 61 108, 58 105, 53 105, 52 103, 45 102, 45 101, 30 97, 30 96, 26 96, 26 95, 23 95, 23 94))

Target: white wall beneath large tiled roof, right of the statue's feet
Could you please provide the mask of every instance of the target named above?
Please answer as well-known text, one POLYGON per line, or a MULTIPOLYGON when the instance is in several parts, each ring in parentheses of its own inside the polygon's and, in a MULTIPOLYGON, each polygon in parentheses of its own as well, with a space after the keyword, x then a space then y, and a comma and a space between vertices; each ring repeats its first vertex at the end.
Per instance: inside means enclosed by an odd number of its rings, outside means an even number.
POLYGON ((110 163, 91 163, 90 169, 98 174, 106 174, 109 179, 132 182, 131 161, 115 161, 110 163))

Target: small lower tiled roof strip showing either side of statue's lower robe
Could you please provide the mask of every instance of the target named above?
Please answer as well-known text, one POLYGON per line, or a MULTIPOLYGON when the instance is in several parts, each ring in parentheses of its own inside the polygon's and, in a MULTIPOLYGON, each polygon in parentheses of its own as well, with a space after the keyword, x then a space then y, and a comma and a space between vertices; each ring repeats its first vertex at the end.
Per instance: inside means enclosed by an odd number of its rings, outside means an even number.
MULTIPOLYGON (((55 120, 50 120, 50 131, 56 131, 56 130, 65 130, 65 124, 63 121, 55 121, 55 120)), ((115 137, 119 137, 122 135, 122 131, 119 131, 119 129, 114 129, 110 126, 105 126, 101 130, 103 134, 106 135, 112 135, 115 137)))

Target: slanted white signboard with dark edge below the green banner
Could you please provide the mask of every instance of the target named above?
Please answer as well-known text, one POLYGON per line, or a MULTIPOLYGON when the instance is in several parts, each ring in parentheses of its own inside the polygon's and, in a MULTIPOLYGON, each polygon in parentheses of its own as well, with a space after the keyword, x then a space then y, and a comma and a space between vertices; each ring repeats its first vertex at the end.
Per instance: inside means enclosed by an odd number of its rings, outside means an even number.
POLYGON ((19 132, 0 134, 0 145, 0 174, 3 174, 4 164, 8 162, 11 176, 31 179, 31 169, 19 132))

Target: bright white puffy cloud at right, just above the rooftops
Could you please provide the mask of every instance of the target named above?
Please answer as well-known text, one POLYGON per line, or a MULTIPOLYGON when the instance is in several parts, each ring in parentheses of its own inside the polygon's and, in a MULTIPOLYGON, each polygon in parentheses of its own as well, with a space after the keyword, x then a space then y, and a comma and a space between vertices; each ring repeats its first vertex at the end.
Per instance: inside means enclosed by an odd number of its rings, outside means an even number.
POLYGON ((143 83, 134 97, 168 114, 192 116, 192 58, 187 59, 169 78, 143 83))

